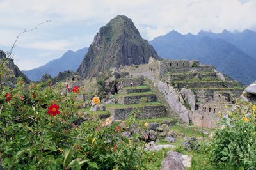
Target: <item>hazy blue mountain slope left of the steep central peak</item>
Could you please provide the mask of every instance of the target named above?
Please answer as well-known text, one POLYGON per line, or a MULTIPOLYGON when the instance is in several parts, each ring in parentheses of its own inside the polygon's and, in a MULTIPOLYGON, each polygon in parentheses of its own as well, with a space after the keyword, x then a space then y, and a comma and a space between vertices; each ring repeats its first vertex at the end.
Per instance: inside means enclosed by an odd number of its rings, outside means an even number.
POLYGON ((61 58, 49 61, 49 63, 38 68, 22 72, 27 75, 31 81, 39 81, 45 73, 48 73, 51 77, 55 77, 59 72, 67 70, 76 71, 87 51, 87 47, 79 49, 76 52, 68 50, 61 58))

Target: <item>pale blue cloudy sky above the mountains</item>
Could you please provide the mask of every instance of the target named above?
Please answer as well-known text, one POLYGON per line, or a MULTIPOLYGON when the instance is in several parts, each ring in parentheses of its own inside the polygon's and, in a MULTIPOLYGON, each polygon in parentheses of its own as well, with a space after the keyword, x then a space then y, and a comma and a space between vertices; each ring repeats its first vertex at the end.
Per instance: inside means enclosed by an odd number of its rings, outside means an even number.
POLYGON ((131 18, 141 36, 152 40, 173 29, 182 34, 223 29, 256 31, 256 0, 0 0, 0 49, 20 36, 14 61, 21 70, 42 66, 67 50, 89 47, 116 15, 131 18))

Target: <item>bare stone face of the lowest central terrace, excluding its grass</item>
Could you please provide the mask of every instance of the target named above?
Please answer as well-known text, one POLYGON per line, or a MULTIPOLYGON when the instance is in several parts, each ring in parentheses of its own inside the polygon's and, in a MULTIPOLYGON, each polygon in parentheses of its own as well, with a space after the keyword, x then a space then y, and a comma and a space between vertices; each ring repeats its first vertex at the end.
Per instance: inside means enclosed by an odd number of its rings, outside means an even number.
MULTIPOLYGON (((111 116, 115 118, 115 120, 125 120, 128 118, 129 114, 131 114, 134 108, 125 108, 125 109, 111 109, 111 116)), ((140 114, 138 117, 140 119, 149 119, 149 118, 161 118, 166 116, 166 108, 164 105, 159 106, 145 106, 141 107, 140 114)))

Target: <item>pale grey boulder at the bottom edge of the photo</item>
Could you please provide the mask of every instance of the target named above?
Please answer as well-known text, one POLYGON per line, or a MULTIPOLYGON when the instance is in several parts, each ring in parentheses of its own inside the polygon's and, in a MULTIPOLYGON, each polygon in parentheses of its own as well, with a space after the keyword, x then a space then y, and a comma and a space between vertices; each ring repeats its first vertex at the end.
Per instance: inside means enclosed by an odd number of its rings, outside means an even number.
POLYGON ((168 151, 167 157, 161 163, 161 170, 180 170, 191 167, 192 158, 176 151, 168 151))

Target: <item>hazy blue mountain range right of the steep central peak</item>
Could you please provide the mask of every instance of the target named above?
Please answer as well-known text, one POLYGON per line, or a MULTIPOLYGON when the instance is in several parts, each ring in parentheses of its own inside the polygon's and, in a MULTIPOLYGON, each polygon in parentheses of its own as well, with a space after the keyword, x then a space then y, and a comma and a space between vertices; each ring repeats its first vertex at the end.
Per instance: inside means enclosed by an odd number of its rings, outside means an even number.
POLYGON ((197 35, 171 31, 149 43, 162 58, 197 59, 246 84, 256 79, 256 33, 253 31, 200 31, 197 35))

